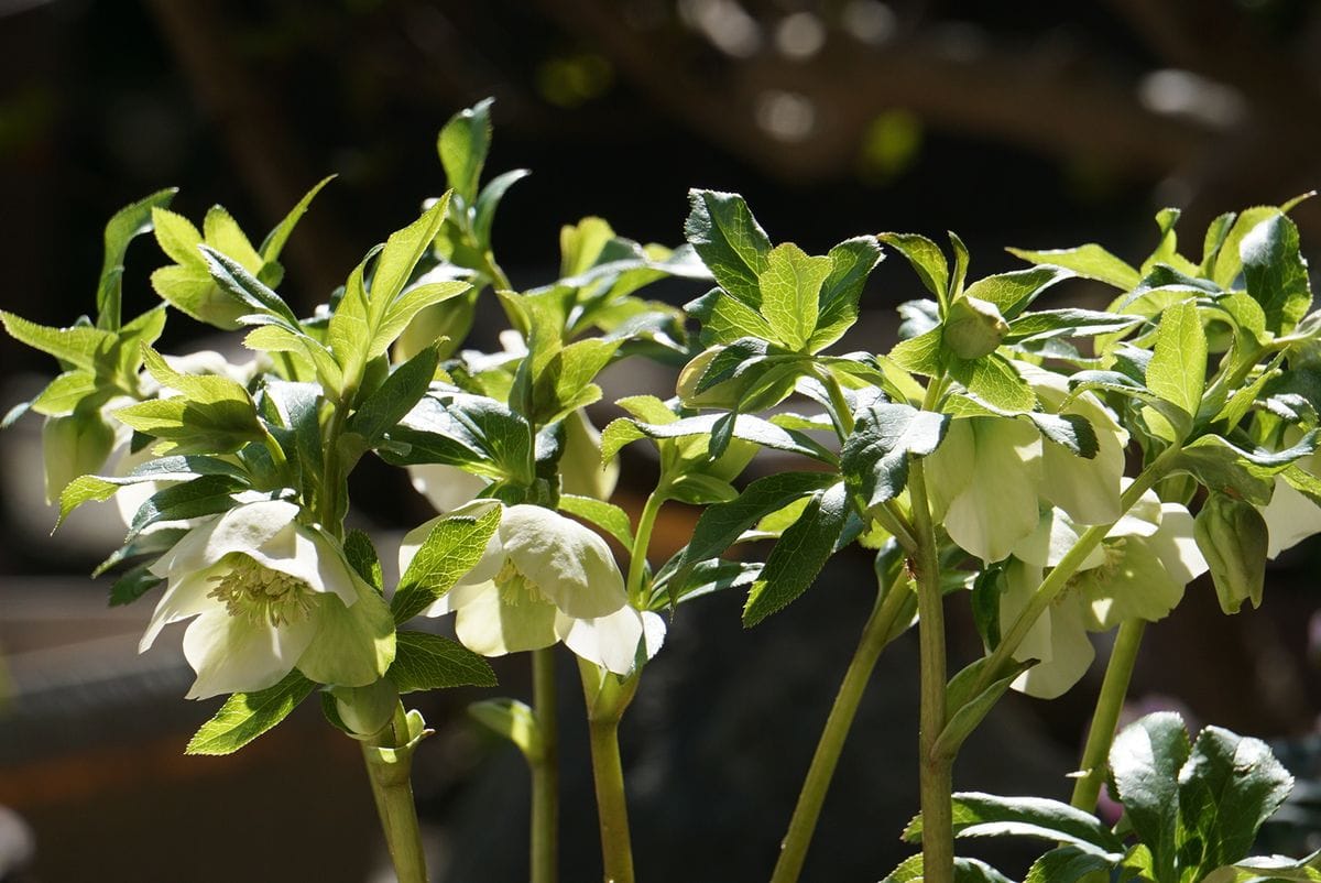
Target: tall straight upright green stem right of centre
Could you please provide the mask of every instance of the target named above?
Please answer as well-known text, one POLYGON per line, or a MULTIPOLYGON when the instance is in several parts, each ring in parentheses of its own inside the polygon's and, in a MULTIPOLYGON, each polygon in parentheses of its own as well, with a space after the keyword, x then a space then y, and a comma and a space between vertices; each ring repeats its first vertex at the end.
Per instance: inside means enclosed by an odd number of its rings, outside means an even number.
POLYGON ((946 724, 945 596, 935 526, 926 496, 921 457, 909 464, 909 496, 918 553, 913 559, 917 578, 918 653, 922 665, 922 709, 918 731, 918 772, 922 793, 922 879, 954 883, 954 759, 937 751, 946 724))

